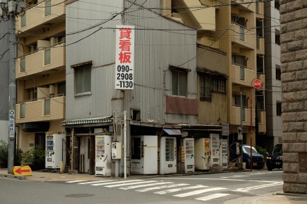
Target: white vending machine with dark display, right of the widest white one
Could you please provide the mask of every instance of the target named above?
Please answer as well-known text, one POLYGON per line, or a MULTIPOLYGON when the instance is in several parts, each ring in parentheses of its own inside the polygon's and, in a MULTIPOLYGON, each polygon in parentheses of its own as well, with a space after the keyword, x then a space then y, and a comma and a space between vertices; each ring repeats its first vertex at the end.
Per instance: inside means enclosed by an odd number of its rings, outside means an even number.
POLYGON ((161 136, 160 140, 160 174, 177 172, 176 137, 161 136))

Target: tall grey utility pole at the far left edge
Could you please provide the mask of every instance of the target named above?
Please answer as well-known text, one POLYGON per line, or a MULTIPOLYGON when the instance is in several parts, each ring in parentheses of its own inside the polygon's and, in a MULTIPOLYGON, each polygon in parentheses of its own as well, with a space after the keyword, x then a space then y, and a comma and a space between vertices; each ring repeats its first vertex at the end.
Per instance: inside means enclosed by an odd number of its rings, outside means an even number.
POLYGON ((15 17, 24 12, 26 2, 24 0, 0 0, 0 17, 8 18, 10 21, 10 85, 8 90, 8 110, 9 110, 9 139, 8 139, 8 174, 11 174, 14 167, 15 155, 15 106, 16 106, 16 29, 15 17))

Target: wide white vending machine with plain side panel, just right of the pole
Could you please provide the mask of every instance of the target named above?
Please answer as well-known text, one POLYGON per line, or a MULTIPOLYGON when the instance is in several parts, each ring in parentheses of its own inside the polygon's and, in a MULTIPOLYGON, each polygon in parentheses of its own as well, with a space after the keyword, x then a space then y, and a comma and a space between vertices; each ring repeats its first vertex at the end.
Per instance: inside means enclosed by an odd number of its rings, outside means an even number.
POLYGON ((158 174, 158 136, 131 136, 131 174, 158 174))

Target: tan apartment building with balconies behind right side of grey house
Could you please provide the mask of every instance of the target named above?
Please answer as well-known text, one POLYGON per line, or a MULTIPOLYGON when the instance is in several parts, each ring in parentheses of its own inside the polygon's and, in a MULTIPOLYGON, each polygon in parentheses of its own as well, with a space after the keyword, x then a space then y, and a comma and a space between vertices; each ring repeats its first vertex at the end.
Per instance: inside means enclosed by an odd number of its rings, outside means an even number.
MULTIPOLYGON (((165 0, 163 6, 171 8, 163 12, 165 16, 197 28, 198 43, 225 53, 225 76, 228 76, 225 121, 229 124, 229 141, 238 141, 237 130, 242 121, 243 143, 249 144, 252 134, 252 145, 255 145, 256 138, 266 133, 263 2, 165 0), (257 78, 263 81, 261 90, 251 88, 257 78)), ((220 103, 212 104, 216 105, 215 111, 223 108, 220 103)))

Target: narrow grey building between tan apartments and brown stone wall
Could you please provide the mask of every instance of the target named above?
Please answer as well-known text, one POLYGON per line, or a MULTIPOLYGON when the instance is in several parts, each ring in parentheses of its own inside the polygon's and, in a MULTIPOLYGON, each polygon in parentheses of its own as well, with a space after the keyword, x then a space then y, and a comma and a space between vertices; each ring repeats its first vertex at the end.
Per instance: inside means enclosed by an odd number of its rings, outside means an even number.
POLYGON ((264 142, 270 151, 277 143, 282 143, 281 120, 281 46, 279 25, 279 0, 264 3, 266 55, 266 110, 267 132, 264 142))

